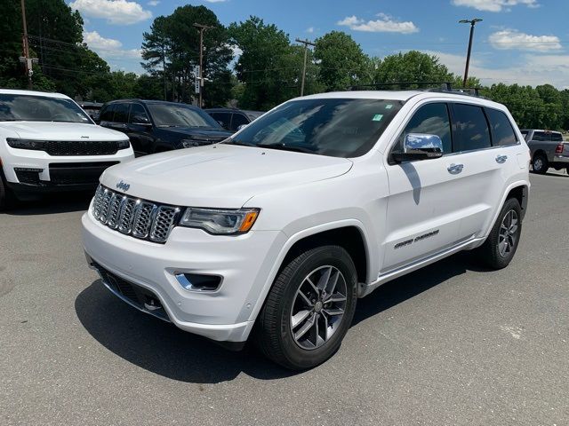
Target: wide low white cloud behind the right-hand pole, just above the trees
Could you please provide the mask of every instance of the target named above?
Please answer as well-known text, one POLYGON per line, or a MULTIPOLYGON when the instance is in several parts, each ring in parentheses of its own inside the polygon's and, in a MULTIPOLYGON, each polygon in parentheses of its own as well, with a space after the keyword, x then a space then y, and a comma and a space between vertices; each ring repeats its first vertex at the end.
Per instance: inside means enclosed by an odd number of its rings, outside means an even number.
MULTIPOLYGON (((456 75, 464 74, 465 56, 454 55, 441 51, 424 51, 436 55, 442 64, 456 75)), ((532 85, 553 84, 564 88, 569 81, 569 55, 538 55, 523 54, 516 64, 511 67, 489 67, 485 60, 473 58, 470 60, 469 75, 477 77, 484 85, 507 83, 532 85)))

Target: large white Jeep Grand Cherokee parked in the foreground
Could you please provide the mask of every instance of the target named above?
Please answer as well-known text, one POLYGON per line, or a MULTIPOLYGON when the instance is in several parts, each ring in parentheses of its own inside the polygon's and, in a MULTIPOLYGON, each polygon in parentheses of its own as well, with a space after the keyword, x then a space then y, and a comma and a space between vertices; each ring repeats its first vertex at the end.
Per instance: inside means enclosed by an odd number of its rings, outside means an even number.
MULTIPOLYGON (((422 91, 293 99, 228 140, 108 169, 83 217, 116 296, 289 368, 331 357, 358 297, 460 250, 509 264, 529 150, 506 107, 422 91)), ((101 310, 104 315, 104 310, 101 310)))

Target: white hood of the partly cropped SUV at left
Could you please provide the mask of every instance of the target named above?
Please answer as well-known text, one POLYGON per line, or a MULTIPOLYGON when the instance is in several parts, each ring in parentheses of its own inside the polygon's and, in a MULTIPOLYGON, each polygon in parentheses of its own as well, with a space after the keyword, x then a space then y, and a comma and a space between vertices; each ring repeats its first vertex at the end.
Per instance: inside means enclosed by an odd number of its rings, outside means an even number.
POLYGON ((120 140, 127 138, 120 131, 82 122, 0 122, 0 128, 12 130, 22 139, 120 140))

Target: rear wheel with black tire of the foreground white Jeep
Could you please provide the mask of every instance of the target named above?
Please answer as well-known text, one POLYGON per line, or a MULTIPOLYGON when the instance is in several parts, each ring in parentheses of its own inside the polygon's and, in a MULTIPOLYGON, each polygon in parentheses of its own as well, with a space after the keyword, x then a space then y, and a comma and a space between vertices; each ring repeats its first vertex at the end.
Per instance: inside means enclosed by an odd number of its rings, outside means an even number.
MULTIPOLYGON (((485 243, 478 249, 478 253, 482 261, 492 269, 502 269, 509 265, 512 258, 516 254, 517 245, 519 243, 519 238, 522 233, 522 209, 519 206, 519 202, 515 198, 509 198, 504 203, 500 211, 500 215, 493 225, 492 231, 485 243), (512 217, 517 220, 516 232, 511 235, 504 236, 505 230, 502 225, 504 225, 504 220, 507 220, 506 215, 513 212, 512 217), (510 238, 511 237, 511 238, 510 238), (507 251, 504 253, 501 248, 504 248, 502 241, 508 241, 506 246, 507 251)), ((508 224, 505 224, 508 227, 508 224)), ((511 228, 510 228, 511 229, 511 228)), ((508 231, 509 233, 509 231, 508 231)))

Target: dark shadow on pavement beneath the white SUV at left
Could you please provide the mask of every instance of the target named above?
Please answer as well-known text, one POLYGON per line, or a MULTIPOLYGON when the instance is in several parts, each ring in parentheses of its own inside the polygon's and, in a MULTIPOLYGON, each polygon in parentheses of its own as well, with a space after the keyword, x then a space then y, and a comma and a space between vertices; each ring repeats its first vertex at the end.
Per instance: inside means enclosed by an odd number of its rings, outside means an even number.
POLYGON ((89 208, 93 191, 80 193, 50 193, 34 201, 18 201, 4 213, 11 216, 35 216, 68 213, 89 208))

